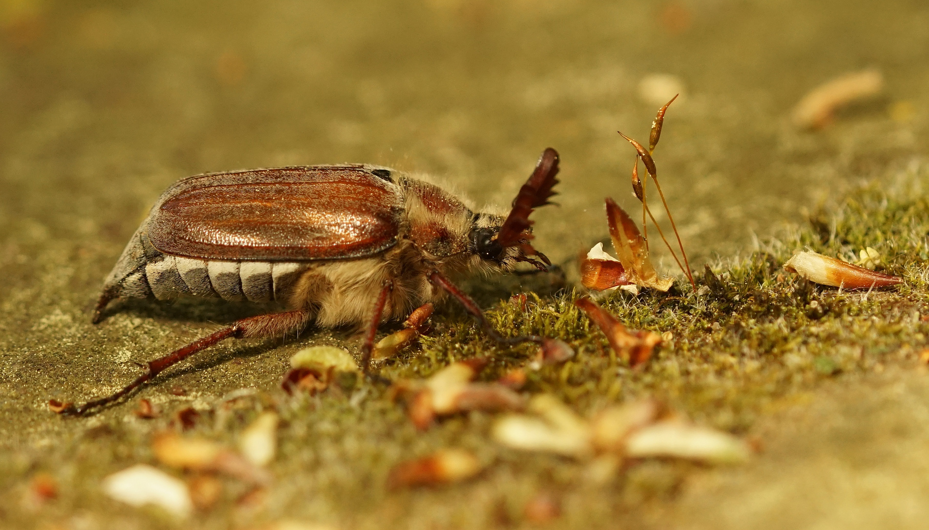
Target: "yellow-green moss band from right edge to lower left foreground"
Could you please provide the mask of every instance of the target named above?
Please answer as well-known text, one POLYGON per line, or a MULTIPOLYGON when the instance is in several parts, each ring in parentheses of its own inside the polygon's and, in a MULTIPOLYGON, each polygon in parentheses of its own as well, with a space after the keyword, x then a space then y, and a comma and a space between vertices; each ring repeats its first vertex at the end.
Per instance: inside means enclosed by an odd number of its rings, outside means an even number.
MULTIPOLYGON (((923 265, 929 252, 929 204, 922 193, 927 183, 929 175, 922 169, 862 187, 837 207, 817 213, 806 226, 708 267, 697 277, 698 293, 678 281, 667 293, 606 297, 603 306, 628 326, 674 334, 646 365, 635 369, 609 350, 603 334, 573 306, 579 296, 573 288, 530 293, 525 309, 505 300, 505 281, 496 288, 485 286, 478 295, 503 299, 488 307, 498 330, 559 337, 577 351, 564 364, 530 371, 524 392, 556 394, 582 416, 609 404, 654 396, 702 423, 751 436, 759 418, 790 406, 824 381, 857 381, 875 370, 924 362, 919 357, 929 332, 929 322, 922 318, 929 313, 923 265), (883 269, 905 278, 904 284, 883 291, 838 291, 796 278, 780 266, 794 250, 851 258, 865 247, 881 252, 883 269)), ((542 276, 525 281, 551 283, 542 276)), ((327 339, 325 333, 310 332, 298 342, 335 339, 345 337, 336 333, 327 339)), ((229 348, 242 358, 251 355, 253 346, 229 348)), ((434 317, 434 330, 420 346, 387 361, 380 373, 391 379, 420 378, 451 361, 482 355, 491 365, 481 377, 494 379, 527 364, 534 353, 530 345, 498 348, 450 306, 434 317)), ((171 428, 171 413, 190 405, 189 397, 172 400, 172 384, 161 378, 91 420, 62 419, 71 426, 63 435, 3 459, 0 480, 9 494, 0 502, 0 513, 23 527, 38 522, 109 528, 189 525, 154 509, 116 505, 94 487, 110 472, 153 462, 152 433, 171 428), (163 408, 160 419, 131 415, 143 396, 163 408), (75 423, 80 428, 74 429, 75 423), (41 471, 56 477, 60 495, 31 512, 22 503, 22 492, 41 471)), ((270 466, 274 485, 246 502, 242 496, 247 486, 228 480, 222 500, 197 513, 194 525, 251 527, 296 519, 343 528, 521 527, 527 524, 523 506, 540 492, 560 501, 557 526, 643 524, 648 506, 674 503, 690 477, 707 472, 687 462, 650 460, 635 462, 606 482, 594 480, 590 462, 497 445, 489 436, 491 414, 451 417, 417 432, 388 394, 384 386, 349 380, 314 397, 289 397, 265 386, 232 399, 193 400, 201 418, 188 434, 229 444, 262 410, 276 410, 283 420, 279 454, 270 466), (448 446, 472 450, 485 471, 459 485, 386 489, 391 466, 448 446)))

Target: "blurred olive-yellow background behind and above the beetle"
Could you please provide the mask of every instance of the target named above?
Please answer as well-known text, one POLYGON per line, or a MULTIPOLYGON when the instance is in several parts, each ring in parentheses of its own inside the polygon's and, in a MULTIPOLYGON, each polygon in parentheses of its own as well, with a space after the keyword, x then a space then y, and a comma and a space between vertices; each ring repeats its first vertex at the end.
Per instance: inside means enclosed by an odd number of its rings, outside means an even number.
POLYGON ((927 41, 912 0, 3 0, 0 260, 68 241, 100 278, 164 187, 239 168, 372 162, 507 204, 548 146, 536 232, 569 260, 605 196, 636 207, 616 131, 647 140, 680 92, 656 161, 701 268, 925 152, 927 41), (878 96, 792 124, 865 68, 878 96))

